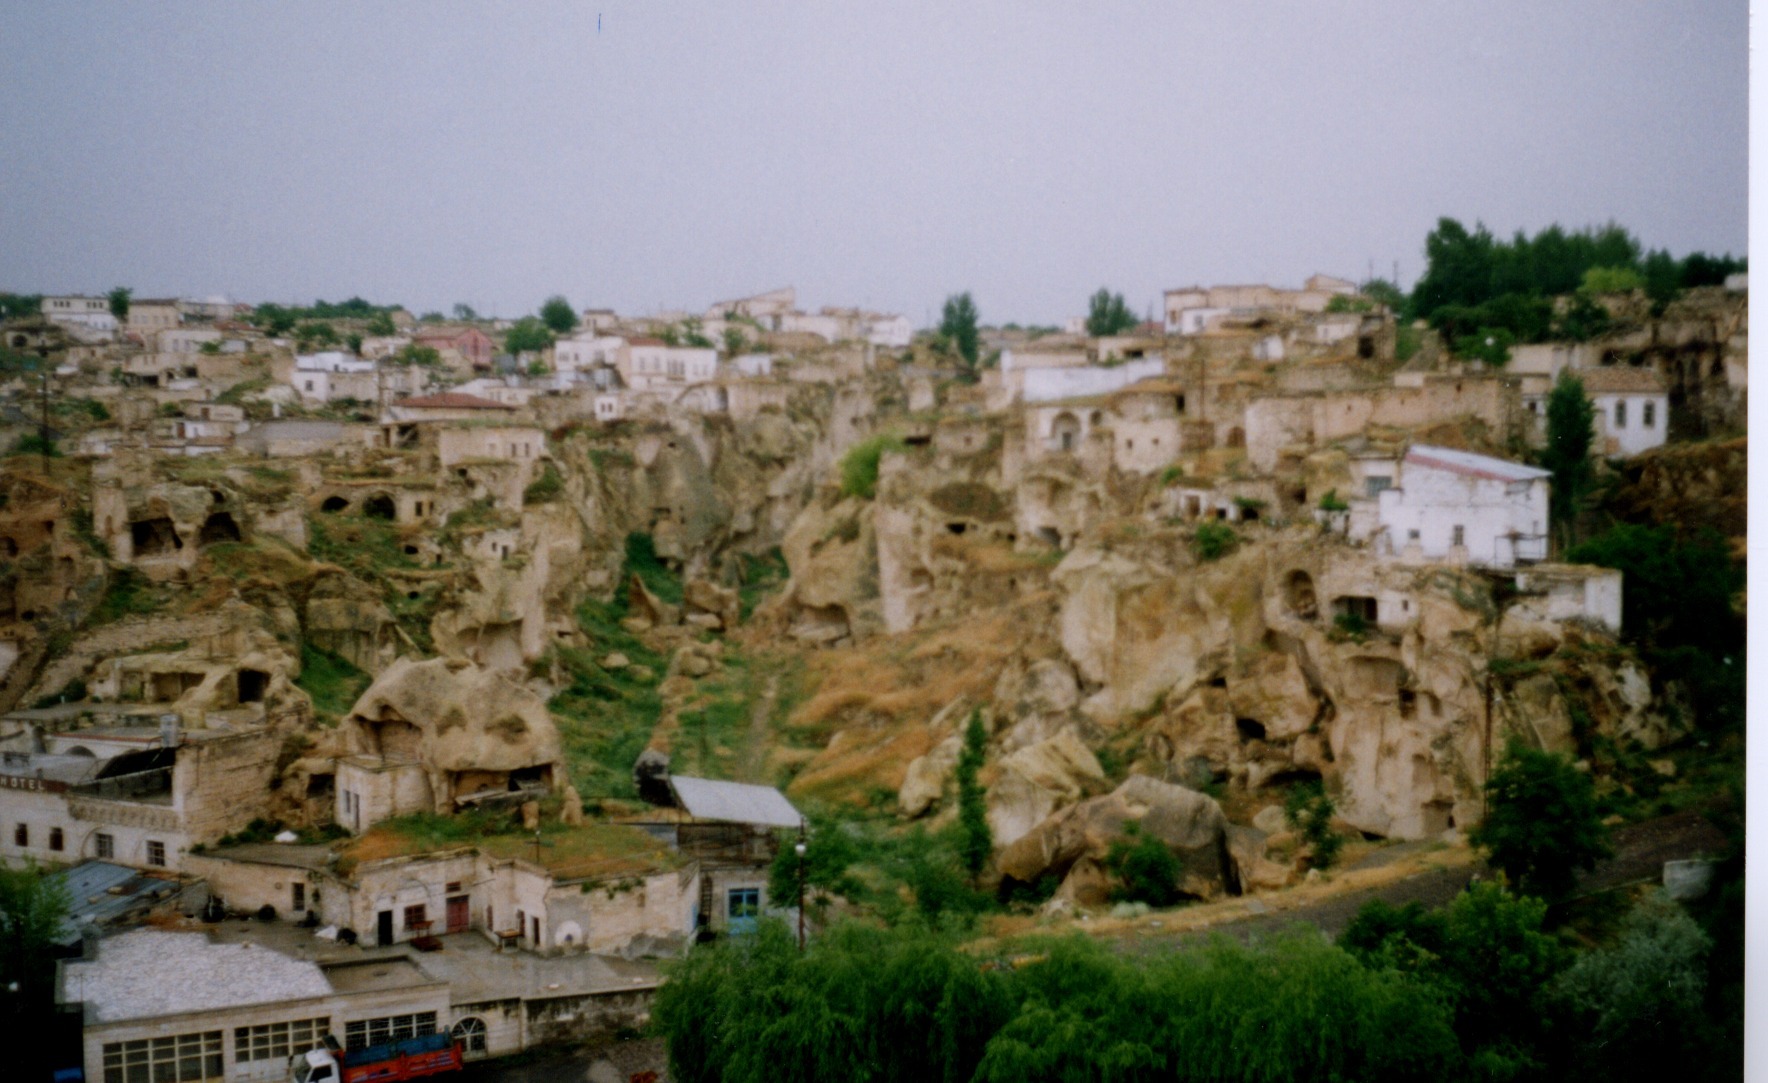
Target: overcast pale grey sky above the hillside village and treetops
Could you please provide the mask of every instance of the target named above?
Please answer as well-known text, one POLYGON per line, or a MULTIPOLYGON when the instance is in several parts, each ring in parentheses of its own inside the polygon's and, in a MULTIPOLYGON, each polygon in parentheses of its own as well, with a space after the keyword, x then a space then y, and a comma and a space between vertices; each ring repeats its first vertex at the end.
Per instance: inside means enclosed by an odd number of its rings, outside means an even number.
POLYGON ((0 0, 0 290, 1057 322, 1437 216, 1747 247, 1701 4, 0 0))

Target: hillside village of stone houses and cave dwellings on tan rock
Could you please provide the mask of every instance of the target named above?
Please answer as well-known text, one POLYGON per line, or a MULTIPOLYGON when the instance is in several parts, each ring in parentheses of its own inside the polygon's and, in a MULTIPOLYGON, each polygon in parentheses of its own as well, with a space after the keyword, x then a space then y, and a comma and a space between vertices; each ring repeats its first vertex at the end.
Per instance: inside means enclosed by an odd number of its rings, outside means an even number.
POLYGON ((1492 366, 1340 277, 1186 286, 972 369, 790 288, 532 350, 42 297, 0 325, 0 857, 65 867, 88 1074, 636 1026, 697 938, 842 912, 769 890, 806 832, 953 823, 972 716, 1043 915, 1109 906, 1124 823, 1190 899, 1275 894, 1298 784, 1460 844, 1512 738, 1662 763, 1697 707, 1535 456, 1575 376, 1605 500, 1741 553, 1747 277, 1600 304, 1492 366))

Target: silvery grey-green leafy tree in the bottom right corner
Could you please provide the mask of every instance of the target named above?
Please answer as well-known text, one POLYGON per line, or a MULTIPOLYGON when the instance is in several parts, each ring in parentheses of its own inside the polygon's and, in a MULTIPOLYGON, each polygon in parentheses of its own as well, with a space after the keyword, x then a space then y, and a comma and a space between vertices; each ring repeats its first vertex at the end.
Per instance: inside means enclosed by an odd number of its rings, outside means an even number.
POLYGON ((1706 956, 1713 943, 1662 894, 1635 906, 1612 947, 1584 952, 1552 995, 1575 1041, 1574 1078, 1653 1079, 1703 1058, 1706 956))

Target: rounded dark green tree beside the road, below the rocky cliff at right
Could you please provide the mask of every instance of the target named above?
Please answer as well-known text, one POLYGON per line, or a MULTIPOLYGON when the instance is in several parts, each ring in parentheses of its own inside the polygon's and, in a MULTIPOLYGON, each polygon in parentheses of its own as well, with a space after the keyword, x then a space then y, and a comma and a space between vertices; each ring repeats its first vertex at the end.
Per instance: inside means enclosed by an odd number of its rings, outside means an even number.
POLYGON ((1512 740, 1485 781, 1485 804, 1469 839, 1520 892, 1563 899, 1579 869, 1611 853, 1595 786, 1565 756, 1512 740))

